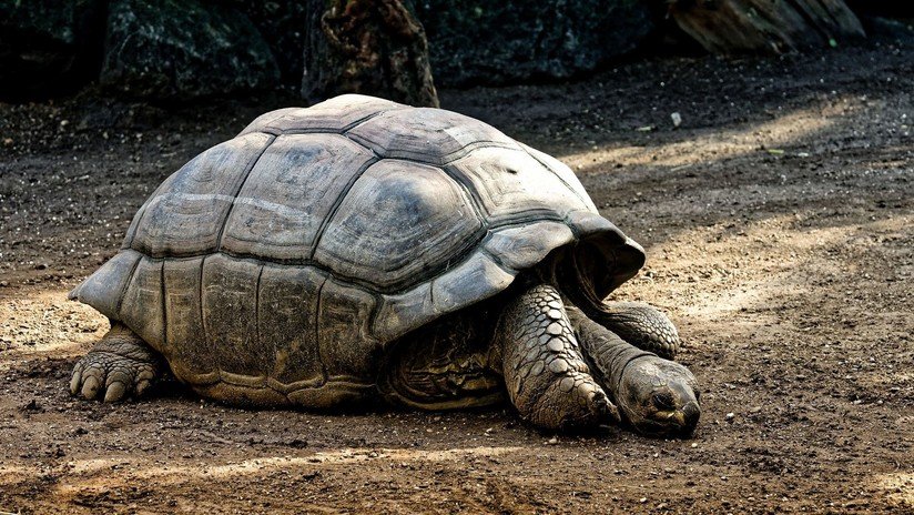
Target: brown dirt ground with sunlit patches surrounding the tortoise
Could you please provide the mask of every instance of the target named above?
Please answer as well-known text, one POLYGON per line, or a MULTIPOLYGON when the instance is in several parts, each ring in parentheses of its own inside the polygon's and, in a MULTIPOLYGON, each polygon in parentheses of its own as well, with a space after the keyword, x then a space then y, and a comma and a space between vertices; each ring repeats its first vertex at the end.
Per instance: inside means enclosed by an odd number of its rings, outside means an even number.
POLYGON ((644 245, 616 297, 679 325, 691 440, 546 434, 508 406, 243 411, 176 384, 72 398, 108 322, 67 292, 167 174, 299 102, 0 104, 0 512, 914 513, 912 93, 912 47, 887 41, 443 92, 569 163, 644 245))

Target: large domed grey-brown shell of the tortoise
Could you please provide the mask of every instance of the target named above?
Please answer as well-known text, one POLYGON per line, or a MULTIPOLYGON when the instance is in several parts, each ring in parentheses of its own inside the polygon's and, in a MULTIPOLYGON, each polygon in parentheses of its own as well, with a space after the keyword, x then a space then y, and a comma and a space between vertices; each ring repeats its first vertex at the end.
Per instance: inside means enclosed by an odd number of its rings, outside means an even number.
POLYGON ((461 114, 348 94, 194 158, 71 297, 185 382, 321 405, 327 384, 369 387, 389 342, 563 246, 593 254, 580 286, 600 297, 643 263, 554 158, 461 114))

